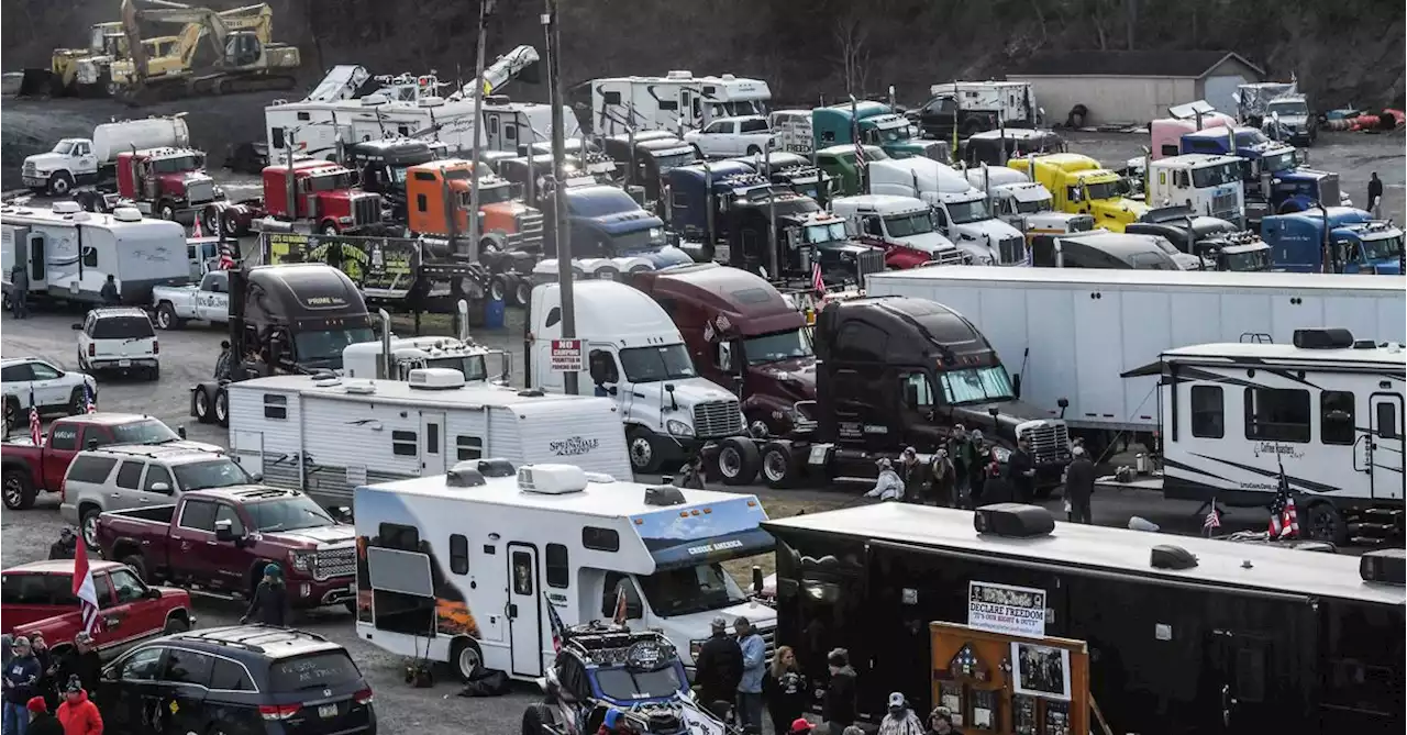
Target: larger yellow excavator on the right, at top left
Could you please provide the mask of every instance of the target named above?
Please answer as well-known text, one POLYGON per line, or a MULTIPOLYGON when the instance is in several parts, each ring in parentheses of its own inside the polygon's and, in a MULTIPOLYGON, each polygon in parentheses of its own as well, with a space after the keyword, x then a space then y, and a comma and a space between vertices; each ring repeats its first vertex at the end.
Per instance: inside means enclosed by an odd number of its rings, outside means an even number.
POLYGON ((146 48, 131 59, 113 63, 114 94, 131 104, 180 97, 235 94, 241 91, 288 90, 303 63, 297 46, 276 44, 273 10, 267 4, 214 11, 163 0, 146 0, 156 7, 138 8, 122 0, 122 31, 128 48, 139 38, 139 22, 179 22, 184 27, 174 46, 162 56, 148 56, 146 48), (201 62, 201 39, 210 37, 214 60, 201 62))

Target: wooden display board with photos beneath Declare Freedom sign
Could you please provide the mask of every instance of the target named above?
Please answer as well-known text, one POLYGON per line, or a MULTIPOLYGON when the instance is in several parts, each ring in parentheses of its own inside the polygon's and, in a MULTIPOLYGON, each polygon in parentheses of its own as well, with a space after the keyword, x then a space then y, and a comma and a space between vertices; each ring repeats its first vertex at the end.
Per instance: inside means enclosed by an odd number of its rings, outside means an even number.
MULTIPOLYGON (((930 623, 933 705, 967 735, 1089 732, 1089 648, 930 623)), ((927 725, 927 722, 924 722, 927 725)))

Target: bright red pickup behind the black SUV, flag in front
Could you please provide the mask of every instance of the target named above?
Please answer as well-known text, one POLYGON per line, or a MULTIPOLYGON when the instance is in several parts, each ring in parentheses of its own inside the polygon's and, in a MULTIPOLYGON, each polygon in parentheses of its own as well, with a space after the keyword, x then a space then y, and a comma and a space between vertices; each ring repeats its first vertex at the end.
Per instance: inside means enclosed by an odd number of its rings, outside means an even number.
MULTIPOLYGON (((125 565, 93 559, 100 625, 93 642, 104 655, 196 625, 190 594, 170 587, 148 587, 125 565)), ((83 630, 83 613, 73 596, 73 561, 44 561, 0 572, 0 632, 44 634, 53 649, 73 642, 83 630)))

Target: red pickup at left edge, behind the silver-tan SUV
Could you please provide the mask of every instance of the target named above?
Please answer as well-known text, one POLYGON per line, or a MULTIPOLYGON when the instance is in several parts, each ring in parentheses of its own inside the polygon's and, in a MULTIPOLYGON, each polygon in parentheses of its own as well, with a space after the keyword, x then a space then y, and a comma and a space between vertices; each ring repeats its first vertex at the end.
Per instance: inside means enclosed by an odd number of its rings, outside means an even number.
MULTIPOLYGON (((136 413, 87 413, 59 419, 35 447, 28 434, 0 441, 0 499, 10 510, 28 510, 41 492, 61 492, 63 475, 79 451, 107 444, 183 441, 169 426, 136 413)), ((210 451, 214 444, 190 443, 210 451)))

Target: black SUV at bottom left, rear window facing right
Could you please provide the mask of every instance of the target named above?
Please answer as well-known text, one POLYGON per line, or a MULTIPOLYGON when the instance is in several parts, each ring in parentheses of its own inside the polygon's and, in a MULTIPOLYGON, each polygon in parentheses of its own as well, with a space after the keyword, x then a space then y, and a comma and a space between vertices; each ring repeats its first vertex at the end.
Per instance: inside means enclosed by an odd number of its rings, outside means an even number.
POLYGON ((103 669, 108 732, 374 735, 371 687, 321 635, 269 625, 210 628, 136 645, 103 669))

